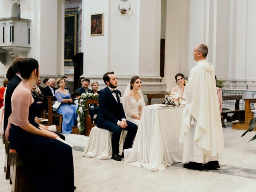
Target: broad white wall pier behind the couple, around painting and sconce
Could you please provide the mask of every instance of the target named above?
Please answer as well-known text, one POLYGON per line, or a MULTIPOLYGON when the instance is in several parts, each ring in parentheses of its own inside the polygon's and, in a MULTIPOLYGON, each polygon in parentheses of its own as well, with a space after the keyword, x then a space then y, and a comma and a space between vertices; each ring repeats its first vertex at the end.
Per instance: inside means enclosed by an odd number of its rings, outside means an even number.
POLYGON ((83 2, 84 74, 98 80, 114 71, 122 90, 134 75, 144 80, 147 90, 163 90, 160 82, 161 4, 158 0, 85 0, 83 2), (131 10, 122 15, 120 7, 131 10), (104 36, 90 36, 90 14, 104 13, 104 36), (151 86, 151 88, 150 88, 151 86))

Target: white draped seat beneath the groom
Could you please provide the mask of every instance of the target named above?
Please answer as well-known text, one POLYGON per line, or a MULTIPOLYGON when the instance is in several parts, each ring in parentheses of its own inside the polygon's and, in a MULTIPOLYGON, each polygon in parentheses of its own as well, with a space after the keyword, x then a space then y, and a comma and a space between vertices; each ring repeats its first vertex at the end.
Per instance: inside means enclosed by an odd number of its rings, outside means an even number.
MULTIPOLYGON (((119 140, 119 154, 122 155, 124 139, 127 131, 122 130, 119 140)), ((84 150, 84 157, 94 157, 97 159, 111 159, 112 158, 112 132, 93 127, 90 132, 90 136, 84 150)))

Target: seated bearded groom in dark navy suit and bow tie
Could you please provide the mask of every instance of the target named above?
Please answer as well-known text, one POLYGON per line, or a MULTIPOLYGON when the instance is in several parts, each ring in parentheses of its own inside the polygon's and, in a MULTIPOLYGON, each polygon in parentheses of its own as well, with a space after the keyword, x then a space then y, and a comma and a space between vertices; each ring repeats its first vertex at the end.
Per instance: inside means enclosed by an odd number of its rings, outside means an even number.
POLYGON ((138 127, 136 124, 126 121, 124 108, 120 103, 121 92, 116 90, 117 79, 114 72, 105 73, 103 80, 107 87, 100 91, 97 127, 112 132, 112 158, 120 161, 119 140, 122 130, 128 131, 124 140, 124 149, 128 149, 132 148, 138 127))

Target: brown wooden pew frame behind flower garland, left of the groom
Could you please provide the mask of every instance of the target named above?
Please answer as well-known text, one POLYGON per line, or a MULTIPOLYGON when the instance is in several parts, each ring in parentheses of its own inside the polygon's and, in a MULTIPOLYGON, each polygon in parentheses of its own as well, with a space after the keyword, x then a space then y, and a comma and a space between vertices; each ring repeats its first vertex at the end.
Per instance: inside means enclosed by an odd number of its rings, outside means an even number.
MULTIPOLYGON (((88 99, 86 100, 87 107, 89 108, 89 104, 99 104, 98 99, 88 99)), ((96 126, 96 124, 92 124, 92 118, 89 114, 89 110, 87 110, 87 116, 85 118, 85 132, 83 133, 85 136, 89 136, 91 129, 96 126)), ((78 126, 72 127, 72 133, 79 134, 78 126)))

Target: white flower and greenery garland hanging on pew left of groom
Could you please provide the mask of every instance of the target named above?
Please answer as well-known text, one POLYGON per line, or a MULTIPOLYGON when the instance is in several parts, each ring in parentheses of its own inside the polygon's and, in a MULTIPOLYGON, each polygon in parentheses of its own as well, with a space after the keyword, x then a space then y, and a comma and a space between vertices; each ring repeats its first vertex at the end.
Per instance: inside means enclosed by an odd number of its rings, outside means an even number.
POLYGON ((87 116, 87 104, 88 99, 99 99, 99 94, 97 93, 82 93, 80 99, 78 100, 78 110, 77 113, 77 126, 79 133, 82 134, 85 130, 85 118, 87 116))

